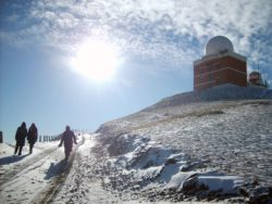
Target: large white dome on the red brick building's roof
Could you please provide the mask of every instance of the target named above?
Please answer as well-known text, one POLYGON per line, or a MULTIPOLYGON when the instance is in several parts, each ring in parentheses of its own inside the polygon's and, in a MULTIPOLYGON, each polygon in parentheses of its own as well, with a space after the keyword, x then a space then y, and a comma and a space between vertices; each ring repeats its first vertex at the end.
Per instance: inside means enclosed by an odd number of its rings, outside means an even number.
POLYGON ((206 55, 219 54, 222 51, 234 51, 233 43, 224 36, 211 38, 206 46, 206 55))

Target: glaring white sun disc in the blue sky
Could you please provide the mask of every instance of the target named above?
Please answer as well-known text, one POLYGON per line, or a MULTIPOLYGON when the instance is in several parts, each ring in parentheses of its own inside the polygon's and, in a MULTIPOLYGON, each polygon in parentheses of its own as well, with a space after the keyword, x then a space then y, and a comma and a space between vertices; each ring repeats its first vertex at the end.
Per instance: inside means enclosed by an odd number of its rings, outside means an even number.
POLYGON ((100 40, 88 40, 78 49, 71 63, 77 73, 94 81, 103 82, 114 77, 119 59, 115 46, 100 40))

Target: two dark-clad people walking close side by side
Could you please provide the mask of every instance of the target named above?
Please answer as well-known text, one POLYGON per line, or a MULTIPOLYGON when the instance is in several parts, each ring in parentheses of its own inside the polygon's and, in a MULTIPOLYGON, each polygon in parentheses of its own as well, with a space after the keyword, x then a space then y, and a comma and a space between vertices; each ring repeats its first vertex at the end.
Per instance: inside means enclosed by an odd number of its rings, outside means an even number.
POLYGON ((15 135, 16 144, 15 144, 14 154, 17 154, 18 152, 18 155, 22 155, 22 150, 23 150, 23 146, 25 145, 25 139, 27 139, 29 143, 29 154, 32 154, 33 146, 38 139, 38 129, 35 123, 32 124, 28 130, 26 128, 25 122, 23 122, 22 125, 17 128, 17 131, 15 135))

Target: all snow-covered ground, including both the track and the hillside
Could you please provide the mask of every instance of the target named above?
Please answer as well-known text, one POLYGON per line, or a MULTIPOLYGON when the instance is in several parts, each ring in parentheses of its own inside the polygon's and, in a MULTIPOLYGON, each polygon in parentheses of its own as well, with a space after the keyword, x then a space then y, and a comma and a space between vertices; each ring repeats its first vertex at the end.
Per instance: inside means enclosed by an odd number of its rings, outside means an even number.
POLYGON ((0 144, 1 203, 272 203, 272 91, 231 85, 163 99, 34 154, 0 144))

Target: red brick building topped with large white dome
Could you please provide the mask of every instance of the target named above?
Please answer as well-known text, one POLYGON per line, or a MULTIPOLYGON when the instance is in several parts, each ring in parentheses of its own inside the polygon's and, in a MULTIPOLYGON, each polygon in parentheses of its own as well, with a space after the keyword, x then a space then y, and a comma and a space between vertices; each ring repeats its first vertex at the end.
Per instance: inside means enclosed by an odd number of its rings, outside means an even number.
POLYGON ((223 84, 247 87, 247 59, 234 52, 226 37, 217 36, 207 43, 202 59, 194 62, 194 90, 223 84))

